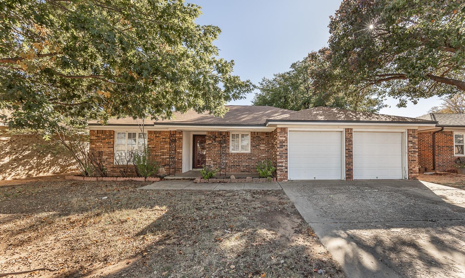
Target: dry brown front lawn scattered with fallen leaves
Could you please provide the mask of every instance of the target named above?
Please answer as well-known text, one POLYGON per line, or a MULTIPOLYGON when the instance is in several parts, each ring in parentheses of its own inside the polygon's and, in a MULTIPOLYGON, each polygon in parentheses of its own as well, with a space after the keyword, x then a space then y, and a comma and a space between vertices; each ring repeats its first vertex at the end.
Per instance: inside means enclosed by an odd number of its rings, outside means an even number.
POLYGON ((0 186, 0 277, 344 277, 282 190, 146 184, 0 186))

